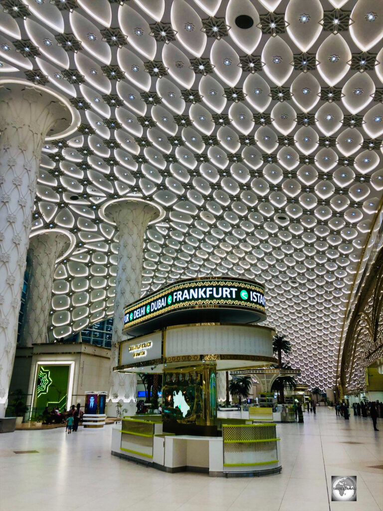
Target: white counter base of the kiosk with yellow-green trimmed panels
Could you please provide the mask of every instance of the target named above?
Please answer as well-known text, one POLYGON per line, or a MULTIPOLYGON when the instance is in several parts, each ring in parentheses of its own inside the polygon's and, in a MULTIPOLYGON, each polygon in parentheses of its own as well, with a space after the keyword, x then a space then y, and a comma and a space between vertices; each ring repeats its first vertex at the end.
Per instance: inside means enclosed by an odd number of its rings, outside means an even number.
POLYGON ((112 429, 114 456, 165 472, 247 477, 282 470, 275 424, 223 424, 223 436, 162 433, 162 423, 124 417, 112 429))

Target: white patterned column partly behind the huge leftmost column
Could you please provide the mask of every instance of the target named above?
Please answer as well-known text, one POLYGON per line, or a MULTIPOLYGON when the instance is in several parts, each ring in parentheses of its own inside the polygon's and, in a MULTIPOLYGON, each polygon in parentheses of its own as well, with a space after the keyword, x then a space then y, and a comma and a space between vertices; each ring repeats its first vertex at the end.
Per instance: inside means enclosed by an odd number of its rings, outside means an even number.
POLYGON ((66 252, 69 245, 70 238, 55 229, 30 239, 28 254, 31 259, 31 270, 26 312, 20 335, 22 347, 46 342, 56 260, 66 252))

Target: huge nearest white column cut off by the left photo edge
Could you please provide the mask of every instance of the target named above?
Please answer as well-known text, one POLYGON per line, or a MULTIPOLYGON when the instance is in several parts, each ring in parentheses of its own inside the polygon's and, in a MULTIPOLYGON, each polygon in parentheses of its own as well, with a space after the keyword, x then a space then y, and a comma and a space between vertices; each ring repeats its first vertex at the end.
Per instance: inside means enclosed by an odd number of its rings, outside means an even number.
POLYGON ((70 108, 49 89, 23 83, 0 86, 0 417, 16 349, 41 147, 47 133, 56 134, 71 122, 70 108))

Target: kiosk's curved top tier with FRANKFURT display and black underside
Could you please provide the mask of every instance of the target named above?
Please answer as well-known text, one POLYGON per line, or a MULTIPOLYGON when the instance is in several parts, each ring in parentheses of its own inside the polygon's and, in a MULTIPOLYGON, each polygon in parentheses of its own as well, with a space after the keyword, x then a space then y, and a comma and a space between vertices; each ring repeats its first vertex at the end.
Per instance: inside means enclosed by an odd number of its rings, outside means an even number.
POLYGON ((135 301, 125 309, 124 330, 139 335, 184 321, 243 324, 264 319, 262 286, 247 280, 204 278, 181 281, 135 301))

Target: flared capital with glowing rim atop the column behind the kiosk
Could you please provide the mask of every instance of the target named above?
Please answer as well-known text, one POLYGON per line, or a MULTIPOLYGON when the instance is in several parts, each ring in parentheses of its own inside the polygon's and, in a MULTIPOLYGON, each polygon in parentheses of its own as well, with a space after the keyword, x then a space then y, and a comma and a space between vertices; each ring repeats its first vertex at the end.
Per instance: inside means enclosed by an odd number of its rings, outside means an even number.
POLYGON ((149 225, 159 222, 165 216, 165 212, 159 204, 134 197, 106 202, 100 208, 99 215, 106 222, 118 227, 118 223, 121 222, 120 215, 125 213, 132 215, 146 214, 149 217, 147 222, 149 225))

